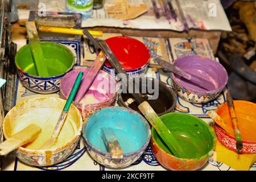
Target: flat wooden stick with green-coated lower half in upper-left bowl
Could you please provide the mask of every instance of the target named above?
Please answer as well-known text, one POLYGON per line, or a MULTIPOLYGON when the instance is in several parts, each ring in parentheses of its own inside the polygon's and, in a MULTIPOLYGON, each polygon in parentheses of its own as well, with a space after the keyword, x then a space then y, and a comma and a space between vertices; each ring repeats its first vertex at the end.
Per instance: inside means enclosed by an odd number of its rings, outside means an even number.
POLYGON ((44 64, 43 50, 40 45, 38 31, 35 22, 26 22, 27 36, 30 44, 33 61, 35 64, 36 74, 38 76, 49 76, 46 64, 44 64))

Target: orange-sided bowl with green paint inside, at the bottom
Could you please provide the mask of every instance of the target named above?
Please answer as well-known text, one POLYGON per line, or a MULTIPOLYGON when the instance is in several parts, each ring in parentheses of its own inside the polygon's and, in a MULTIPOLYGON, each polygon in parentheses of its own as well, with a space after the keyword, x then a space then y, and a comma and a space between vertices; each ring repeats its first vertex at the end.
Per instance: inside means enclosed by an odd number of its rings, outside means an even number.
POLYGON ((168 113, 160 117, 177 139, 188 159, 172 155, 154 128, 151 129, 151 146, 156 160, 174 171, 200 169, 213 155, 215 137, 212 129, 200 118, 190 114, 168 113))

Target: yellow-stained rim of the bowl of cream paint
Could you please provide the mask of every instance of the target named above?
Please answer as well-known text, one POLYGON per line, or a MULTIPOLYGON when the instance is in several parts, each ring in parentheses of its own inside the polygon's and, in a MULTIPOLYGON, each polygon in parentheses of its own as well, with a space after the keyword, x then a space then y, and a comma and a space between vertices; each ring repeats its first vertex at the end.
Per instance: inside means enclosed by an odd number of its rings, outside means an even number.
MULTIPOLYGON (((29 100, 22 101, 19 104, 15 105, 12 109, 16 108, 19 105, 24 104, 25 102, 31 101, 31 100, 39 100, 40 101, 40 100, 48 100, 49 98, 55 98, 57 100, 65 101, 62 98, 57 98, 57 97, 36 97, 36 98, 31 98, 29 100)), ((67 143, 65 143, 65 144, 63 144, 62 146, 59 146, 59 147, 54 147, 54 148, 45 149, 45 150, 32 150, 32 149, 28 149, 28 148, 24 148, 24 147, 19 147, 18 151, 20 151, 22 153, 26 153, 26 154, 32 154, 32 153, 34 154, 34 153, 36 153, 37 155, 45 155, 46 151, 51 151, 51 152, 53 152, 53 154, 55 154, 56 152, 59 152, 59 151, 64 150, 65 148, 68 148, 71 143, 73 143, 73 142, 75 142, 77 140, 77 137, 78 138, 80 137, 81 132, 82 132, 82 116, 81 116, 79 110, 77 109, 77 107, 75 105, 73 105, 73 109, 75 109, 77 111, 77 113, 80 115, 80 126, 77 129, 77 132, 73 135, 72 139, 70 139, 67 143)), ((7 114, 9 114, 9 112, 7 114)), ((6 116, 7 116, 7 114, 6 114, 6 116)), ((5 116, 5 118, 6 118, 6 116, 5 116)), ((3 119, 3 128, 4 127, 5 127, 5 119, 3 119)), ((3 130, 3 135, 5 136, 6 139, 9 139, 9 138, 6 137, 7 135, 5 133, 5 130, 3 130)))

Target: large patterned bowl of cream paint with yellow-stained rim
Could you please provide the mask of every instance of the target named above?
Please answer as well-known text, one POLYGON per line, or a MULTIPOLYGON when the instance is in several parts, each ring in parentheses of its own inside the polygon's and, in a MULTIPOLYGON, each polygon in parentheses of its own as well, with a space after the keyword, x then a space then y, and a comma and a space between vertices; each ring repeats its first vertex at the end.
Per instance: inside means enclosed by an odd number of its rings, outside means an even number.
POLYGON ((16 150, 19 160, 33 166, 51 166, 62 162, 72 154, 79 142, 82 130, 81 114, 73 104, 56 145, 46 150, 38 150, 51 137, 65 102, 55 97, 33 98, 20 102, 7 113, 3 121, 3 134, 6 139, 30 123, 35 123, 42 128, 38 138, 16 150))

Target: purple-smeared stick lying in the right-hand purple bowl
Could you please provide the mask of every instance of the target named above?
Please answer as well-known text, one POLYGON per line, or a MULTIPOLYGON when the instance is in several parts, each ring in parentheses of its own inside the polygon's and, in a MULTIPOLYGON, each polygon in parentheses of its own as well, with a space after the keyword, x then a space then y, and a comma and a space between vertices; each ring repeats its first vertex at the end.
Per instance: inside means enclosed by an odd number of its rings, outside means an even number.
POLYGON ((164 61, 162 59, 156 58, 155 59, 158 64, 168 69, 169 71, 175 73, 178 76, 181 76, 189 81, 191 81, 193 84, 196 84, 197 86, 200 86, 201 88, 204 88, 206 90, 214 90, 215 86, 212 82, 205 80, 204 78, 201 78, 199 76, 193 75, 192 73, 187 73, 180 68, 176 67, 174 64, 168 63, 167 61, 164 61))

